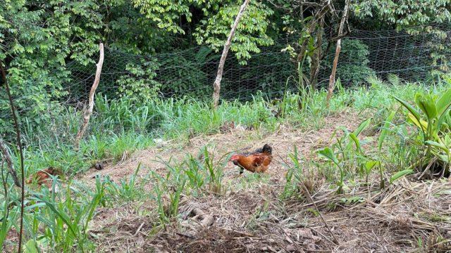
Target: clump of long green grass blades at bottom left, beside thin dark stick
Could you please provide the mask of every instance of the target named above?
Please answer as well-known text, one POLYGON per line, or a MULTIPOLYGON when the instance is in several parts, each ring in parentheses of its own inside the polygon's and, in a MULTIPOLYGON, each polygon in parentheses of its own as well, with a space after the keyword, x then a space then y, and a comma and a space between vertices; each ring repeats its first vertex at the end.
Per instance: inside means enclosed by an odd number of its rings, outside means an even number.
POLYGON ((61 185, 54 181, 52 192, 42 188, 26 207, 26 222, 32 223, 33 226, 25 228, 27 233, 32 235, 32 240, 35 240, 35 243, 27 242, 27 246, 39 245, 52 251, 63 252, 71 251, 74 244, 81 251, 94 249, 94 245, 89 241, 88 224, 95 209, 105 203, 105 184, 97 178, 94 191, 88 193, 74 190, 72 187, 64 188, 61 193, 54 193, 57 186, 61 188, 61 185), (43 230, 39 229, 39 223, 44 225, 43 230))

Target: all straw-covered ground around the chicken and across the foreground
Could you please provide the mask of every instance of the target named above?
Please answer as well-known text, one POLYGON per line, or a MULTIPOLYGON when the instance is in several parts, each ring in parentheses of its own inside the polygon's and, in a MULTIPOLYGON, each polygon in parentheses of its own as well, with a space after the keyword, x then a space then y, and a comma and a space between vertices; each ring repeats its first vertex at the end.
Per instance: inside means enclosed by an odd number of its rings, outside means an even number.
POLYGON ((188 143, 167 142, 142 150, 120 164, 92 169, 80 178, 93 181, 96 174, 114 181, 126 179, 138 164, 149 171, 166 173, 161 162, 197 156, 204 145, 215 157, 233 150, 273 145, 275 160, 268 175, 241 188, 252 174, 235 179, 237 168, 225 169, 228 191, 224 195, 183 197, 182 221, 155 230, 152 200, 101 209, 91 233, 102 252, 447 252, 451 250, 451 181, 416 181, 406 178, 378 190, 377 176, 364 186, 350 182, 345 195, 314 174, 299 186, 298 198, 281 200, 285 185, 283 161, 294 145, 309 157, 330 144, 336 129, 353 130, 362 118, 352 112, 330 115, 317 130, 300 131, 284 126, 273 134, 225 129, 222 134, 198 136, 188 143), (354 198, 354 202, 346 202, 354 198), (199 211, 200 210, 200 211, 199 211), (196 216, 192 216, 192 214, 196 216), (211 219, 211 221, 209 220, 211 219), (206 223, 204 221, 207 221, 206 223), (207 226, 205 226, 207 225, 207 226))

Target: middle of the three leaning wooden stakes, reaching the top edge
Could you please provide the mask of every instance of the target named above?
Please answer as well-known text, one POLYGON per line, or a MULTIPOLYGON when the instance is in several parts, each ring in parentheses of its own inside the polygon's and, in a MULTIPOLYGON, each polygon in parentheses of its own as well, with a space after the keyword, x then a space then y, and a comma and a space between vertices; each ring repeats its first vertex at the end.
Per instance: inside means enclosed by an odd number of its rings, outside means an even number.
POLYGON ((228 34, 228 38, 226 44, 224 45, 223 54, 221 56, 221 60, 219 61, 218 66, 218 74, 216 74, 216 79, 214 80, 214 91, 213 91, 213 106, 214 108, 218 107, 219 103, 219 91, 221 91, 221 79, 223 79, 223 70, 224 63, 226 63, 226 58, 228 54, 228 49, 230 48, 230 43, 232 42, 233 36, 235 35, 235 30, 237 30, 237 26, 240 23, 240 19, 242 15, 245 13, 245 9, 249 4, 250 0, 245 0, 242 4, 240 11, 238 12, 237 18, 235 18, 235 22, 233 23, 232 29, 230 30, 230 34, 228 34))

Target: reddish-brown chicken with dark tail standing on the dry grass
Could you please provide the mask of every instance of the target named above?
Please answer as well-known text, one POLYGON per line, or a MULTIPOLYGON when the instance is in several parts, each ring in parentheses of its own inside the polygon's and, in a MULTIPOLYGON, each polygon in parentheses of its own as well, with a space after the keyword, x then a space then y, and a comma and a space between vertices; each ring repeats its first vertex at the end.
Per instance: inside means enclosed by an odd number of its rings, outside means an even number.
POLYGON ((273 149, 270 145, 265 144, 263 148, 259 148, 252 153, 232 155, 230 161, 240 167, 240 175, 244 169, 251 172, 264 173, 268 169, 271 160, 273 149))

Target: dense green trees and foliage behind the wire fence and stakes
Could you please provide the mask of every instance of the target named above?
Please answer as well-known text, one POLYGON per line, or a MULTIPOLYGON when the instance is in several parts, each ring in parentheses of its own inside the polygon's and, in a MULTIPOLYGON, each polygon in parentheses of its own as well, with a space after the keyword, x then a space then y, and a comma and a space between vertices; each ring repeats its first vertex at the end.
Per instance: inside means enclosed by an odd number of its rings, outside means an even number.
MULTIPOLYGON (((259 53, 262 48, 271 45, 276 47, 271 48, 270 52, 286 47, 297 55, 300 53, 299 46, 302 47, 309 41, 309 53, 305 58, 295 58, 299 62, 305 62, 302 72, 307 75, 307 79, 314 82, 308 73, 311 58, 314 58, 319 50, 316 45, 319 43, 317 34, 321 33, 324 37, 321 39, 324 51, 322 54, 333 53, 333 46, 328 47, 326 51, 326 44, 336 36, 340 18, 338 10, 342 9, 344 1, 334 3, 337 13, 330 11, 323 17, 323 24, 318 23, 318 28, 309 30, 307 27, 315 25, 311 15, 318 11, 319 7, 316 5, 320 4, 323 3, 299 6, 297 1, 290 0, 251 1, 233 40, 231 51, 237 59, 233 64, 246 64, 253 53, 259 53), (321 29, 330 32, 320 32, 321 29), (285 39, 287 37, 290 39, 285 39), (281 39, 285 39, 285 42, 281 39)), ((115 58, 107 59, 106 64, 118 63, 115 72, 127 74, 116 74, 109 78, 111 81, 105 77, 104 83, 99 87, 99 91, 108 93, 109 100, 119 96, 142 100, 154 98, 160 93, 171 95, 174 92, 199 98, 207 91, 204 90, 201 94, 195 91, 211 86, 211 79, 205 77, 214 73, 215 69, 208 63, 214 60, 212 53, 221 49, 222 41, 228 35, 239 5, 237 1, 198 0, 179 1, 176 4, 171 1, 137 0, 132 1, 132 4, 128 1, 92 0, 3 1, 0 3, 0 60, 6 65, 18 108, 24 110, 23 116, 27 117, 30 124, 39 125, 39 122, 48 120, 45 117, 48 117, 49 107, 50 110, 58 110, 58 103, 85 98, 92 81, 82 82, 78 77, 92 74, 92 65, 97 61, 99 41, 103 41, 109 48, 141 55, 174 53, 198 44, 207 46, 199 51, 180 54, 180 57, 174 54, 171 58, 157 58, 158 60, 113 56, 115 58), (86 65, 89 67, 82 68, 86 65), (156 74, 162 67, 180 70, 156 80, 156 74), (169 80, 175 81, 168 84, 169 80), (116 89, 111 92, 111 87, 116 89)), ((449 8, 449 1, 420 1, 417 4, 411 4, 409 1, 396 4, 391 1, 357 1, 351 6, 349 26, 352 31, 398 29, 411 34, 431 34, 431 37, 423 38, 427 41, 400 41, 404 46, 412 44, 412 48, 418 48, 424 43, 433 48, 428 56, 421 57, 420 60, 425 62, 417 60, 408 63, 407 67, 413 70, 404 74, 405 77, 410 77, 415 73, 415 67, 420 65, 438 65, 446 70, 443 63, 446 63, 445 51, 449 50, 449 46, 443 43, 446 41, 445 31, 449 27, 449 8), (431 24, 434 26, 429 26, 431 24)), ((373 72, 371 67, 366 65, 369 57, 373 57, 369 56, 368 48, 391 46, 381 43, 383 41, 380 40, 345 41, 342 60, 349 62, 347 59, 352 59, 352 63, 339 65, 338 76, 342 81, 350 84, 364 82, 364 78, 373 72)), ((383 57, 387 64, 385 67, 378 66, 378 71, 384 72, 393 67, 390 66, 393 62, 388 60, 388 56, 376 57, 383 57)), ((276 55, 276 58, 255 60, 252 64, 265 65, 275 61, 288 63, 286 58, 279 58, 276 55)), ((320 64, 320 67, 323 67, 321 73, 327 77, 332 58, 326 57, 323 60, 325 62, 320 64)), ((384 64, 383 61, 380 65, 384 64)), ((292 72, 296 72, 297 65, 292 65, 292 72)), ((258 73, 259 69, 252 68, 252 71, 258 73)), ((247 76, 231 78, 249 79, 256 76, 257 74, 250 72, 247 76)), ((277 83, 278 89, 270 83, 271 89, 283 90, 286 77, 277 77, 284 80, 277 83)), ((248 87, 250 91, 253 88, 255 86, 248 87)), ((10 122, 5 119, 8 115, 6 102, 4 93, 1 93, 0 126, 3 133, 5 129, 11 130, 10 122)))

